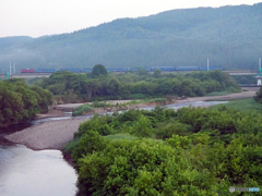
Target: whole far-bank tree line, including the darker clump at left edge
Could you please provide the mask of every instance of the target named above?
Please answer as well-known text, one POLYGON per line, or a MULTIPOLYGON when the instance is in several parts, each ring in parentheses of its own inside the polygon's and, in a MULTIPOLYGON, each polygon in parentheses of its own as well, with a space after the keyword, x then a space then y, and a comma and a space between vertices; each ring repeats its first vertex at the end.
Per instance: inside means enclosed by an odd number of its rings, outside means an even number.
POLYGON ((52 100, 82 102, 108 99, 139 99, 147 97, 203 96, 212 91, 239 90, 237 83, 221 71, 191 74, 150 74, 140 69, 136 73, 107 73, 102 64, 92 73, 56 72, 35 85, 24 79, 0 82, 0 127, 27 122, 36 113, 47 112, 52 100))

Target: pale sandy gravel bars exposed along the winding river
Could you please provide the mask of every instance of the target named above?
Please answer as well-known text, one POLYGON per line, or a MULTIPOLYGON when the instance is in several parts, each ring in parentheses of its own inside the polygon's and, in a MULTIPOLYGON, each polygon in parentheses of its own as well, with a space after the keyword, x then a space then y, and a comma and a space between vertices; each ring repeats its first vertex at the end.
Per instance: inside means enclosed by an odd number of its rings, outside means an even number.
MULTIPOLYGON (((233 100, 250 98, 255 95, 255 91, 242 91, 238 94, 230 94, 226 96, 215 97, 192 97, 183 100, 177 100, 177 103, 193 102, 193 101, 205 101, 205 100, 233 100)), ((136 106, 129 106, 130 108, 147 108, 154 107, 153 103, 141 103, 136 106)), ((52 115, 59 115, 59 112, 51 111, 52 115)), ((96 109, 97 113, 106 112, 104 109, 96 109)), ((61 113, 60 113, 61 114, 61 113)), ((48 117, 48 114, 46 114, 48 117)), ((86 119, 72 119, 72 120, 59 120, 44 122, 37 125, 33 125, 21 132, 5 136, 7 139, 23 144, 32 149, 62 149, 63 145, 73 138, 73 134, 78 131, 80 123, 86 119)))

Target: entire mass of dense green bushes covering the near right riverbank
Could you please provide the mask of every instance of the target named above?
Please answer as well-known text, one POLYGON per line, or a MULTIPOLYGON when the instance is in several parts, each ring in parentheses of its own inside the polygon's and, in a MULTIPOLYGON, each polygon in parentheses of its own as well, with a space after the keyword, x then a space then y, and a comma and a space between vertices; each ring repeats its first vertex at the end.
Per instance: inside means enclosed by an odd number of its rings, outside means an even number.
POLYGON ((129 110, 82 123, 64 151, 79 195, 228 195, 262 183, 261 124, 226 106, 129 110))

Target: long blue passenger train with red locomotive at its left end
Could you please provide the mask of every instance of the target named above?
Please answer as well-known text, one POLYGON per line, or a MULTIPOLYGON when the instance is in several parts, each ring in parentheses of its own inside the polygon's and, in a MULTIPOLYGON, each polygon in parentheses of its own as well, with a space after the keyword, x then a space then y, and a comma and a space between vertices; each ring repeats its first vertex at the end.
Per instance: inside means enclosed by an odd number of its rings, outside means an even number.
MULTIPOLYGON (((153 68, 145 68, 148 72, 154 72, 159 69, 162 72, 187 72, 187 71, 207 71, 207 66, 153 66, 153 68)), ((107 72, 138 72, 138 68, 132 69, 107 69, 107 72)), ((221 70, 224 69, 222 66, 209 66, 210 71, 221 70)), ((53 73, 58 71, 70 71, 73 73, 88 73, 92 72, 92 69, 23 69, 21 73, 53 73)))

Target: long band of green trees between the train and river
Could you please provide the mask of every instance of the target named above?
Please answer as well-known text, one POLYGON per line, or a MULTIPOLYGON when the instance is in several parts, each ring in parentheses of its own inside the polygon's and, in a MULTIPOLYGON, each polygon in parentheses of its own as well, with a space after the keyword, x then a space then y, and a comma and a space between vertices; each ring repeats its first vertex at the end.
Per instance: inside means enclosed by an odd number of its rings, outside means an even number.
POLYGON ((50 90, 58 103, 145 99, 167 95, 194 97, 213 91, 240 91, 238 84, 221 71, 162 74, 157 70, 156 74, 150 74, 140 69, 136 73, 94 73, 96 72, 87 75, 56 72, 38 85, 50 90))

